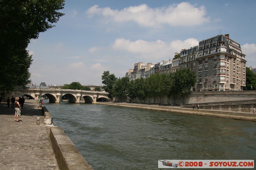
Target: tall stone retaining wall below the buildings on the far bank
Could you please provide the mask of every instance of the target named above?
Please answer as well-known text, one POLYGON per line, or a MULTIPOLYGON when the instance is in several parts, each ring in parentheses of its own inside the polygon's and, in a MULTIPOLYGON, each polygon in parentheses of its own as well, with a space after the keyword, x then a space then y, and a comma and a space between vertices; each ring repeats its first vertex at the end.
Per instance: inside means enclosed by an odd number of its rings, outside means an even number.
POLYGON ((244 91, 197 91, 189 92, 184 96, 161 96, 146 97, 143 100, 139 98, 131 99, 124 97, 116 98, 117 102, 143 103, 163 105, 179 105, 182 107, 192 107, 193 104, 199 104, 202 109, 209 110, 227 110, 252 112, 256 106, 256 90, 244 91))

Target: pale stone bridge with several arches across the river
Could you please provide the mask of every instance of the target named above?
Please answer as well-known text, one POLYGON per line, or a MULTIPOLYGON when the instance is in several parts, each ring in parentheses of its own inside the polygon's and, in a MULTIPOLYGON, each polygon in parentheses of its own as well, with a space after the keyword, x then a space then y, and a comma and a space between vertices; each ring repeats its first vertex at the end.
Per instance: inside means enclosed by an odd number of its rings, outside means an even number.
POLYGON ((96 103, 108 102, 108 93, 72 89, 22 89, 20 96, 35 98, 36 100, 47 96, 50 103, 60 103, 62 97, 68 98, 69 103, 96 103))

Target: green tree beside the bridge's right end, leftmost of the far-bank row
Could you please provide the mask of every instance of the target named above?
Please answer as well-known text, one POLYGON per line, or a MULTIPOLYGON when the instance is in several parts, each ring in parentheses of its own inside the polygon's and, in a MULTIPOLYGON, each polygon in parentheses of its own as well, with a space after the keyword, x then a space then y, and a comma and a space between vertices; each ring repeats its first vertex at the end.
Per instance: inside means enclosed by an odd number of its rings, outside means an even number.
POLYGON ((113 98, 113 85, 116 82, 117 78, 114 74, 110 74, 109 71, 104 71, 103 75, 101 76, 102 84, 105 86, 103 87, 106 92, 109 93, 108 97, 113 98))

